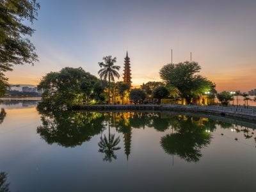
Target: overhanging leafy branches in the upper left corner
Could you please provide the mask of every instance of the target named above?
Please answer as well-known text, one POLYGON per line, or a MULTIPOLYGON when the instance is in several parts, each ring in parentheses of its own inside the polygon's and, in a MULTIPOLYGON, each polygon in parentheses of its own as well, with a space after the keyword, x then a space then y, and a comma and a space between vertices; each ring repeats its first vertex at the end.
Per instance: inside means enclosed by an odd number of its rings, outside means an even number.
POLYGON ((0 94, 7 88, 7 78, 3 72, 10 71, 13 65, 33 64, 38 56, 35 46, 27 36, 34 29, 26 26, 36 20, 40 5, 36 0, 1 0, 0 1, 0 94))

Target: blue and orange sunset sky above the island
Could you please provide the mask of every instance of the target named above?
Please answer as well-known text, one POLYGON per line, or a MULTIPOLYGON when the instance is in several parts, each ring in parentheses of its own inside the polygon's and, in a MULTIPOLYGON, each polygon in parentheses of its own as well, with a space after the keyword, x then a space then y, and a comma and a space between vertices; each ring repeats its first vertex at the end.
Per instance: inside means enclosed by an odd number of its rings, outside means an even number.
POLYGON ((123 69, 126 51, 132 84, 161 81, 159 70, 170 63, 173 49, 174 63, 190 60, 192 52, 219 91, 256 88, 255 0, 38 2, 31 40, 40 61, 7 72, 10 83, 38 84, 63 67, 98 76, 103 56, 116 56, 123 69))

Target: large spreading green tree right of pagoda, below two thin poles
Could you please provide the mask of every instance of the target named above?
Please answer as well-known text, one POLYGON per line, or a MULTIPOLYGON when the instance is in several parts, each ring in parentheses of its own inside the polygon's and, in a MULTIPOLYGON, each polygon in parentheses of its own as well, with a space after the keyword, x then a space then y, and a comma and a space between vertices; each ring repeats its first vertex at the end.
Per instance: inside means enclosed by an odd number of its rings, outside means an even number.
POLYGON ((193 98, 205 92, 215 92, 215 84, 206 77, 198 75, 200 70, 201 67, 198 63, 185 61, 164 65, 159 74, 168 85, 176 87, 180 97, 186 99, 189 104, 193 98))

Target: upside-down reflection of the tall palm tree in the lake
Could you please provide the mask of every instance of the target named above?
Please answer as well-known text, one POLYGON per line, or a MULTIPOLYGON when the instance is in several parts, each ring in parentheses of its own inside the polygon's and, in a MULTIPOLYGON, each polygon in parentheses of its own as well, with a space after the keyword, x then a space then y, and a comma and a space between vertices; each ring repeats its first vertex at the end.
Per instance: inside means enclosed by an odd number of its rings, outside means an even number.
POLYGON ((108 117, 108 138, 106 137, 106 134, 104 134, 104 138, 100 136, 98 145, 100 147, 99 152, 105 154, 103 161, 111 162, 112 159, 117 158, 115 155, 115 150, 120 149, 120 147, 117 147, 118 143, 120 143, 120 138, 119 136, 115 138, 115 134, 110 134, 110 116, 108 115, 108 117))

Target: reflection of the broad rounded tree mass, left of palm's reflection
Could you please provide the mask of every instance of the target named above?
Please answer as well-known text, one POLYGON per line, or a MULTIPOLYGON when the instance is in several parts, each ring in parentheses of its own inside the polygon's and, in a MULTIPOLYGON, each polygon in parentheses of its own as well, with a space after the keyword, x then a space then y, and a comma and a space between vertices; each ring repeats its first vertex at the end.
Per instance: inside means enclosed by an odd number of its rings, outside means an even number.
POLYGON ((52 113, 39 109, 42 125, 37 132, 49 144, 76 147, 104 129, 104 114, 95 112, 63 111, 52 113))

